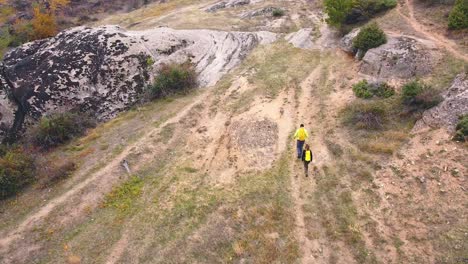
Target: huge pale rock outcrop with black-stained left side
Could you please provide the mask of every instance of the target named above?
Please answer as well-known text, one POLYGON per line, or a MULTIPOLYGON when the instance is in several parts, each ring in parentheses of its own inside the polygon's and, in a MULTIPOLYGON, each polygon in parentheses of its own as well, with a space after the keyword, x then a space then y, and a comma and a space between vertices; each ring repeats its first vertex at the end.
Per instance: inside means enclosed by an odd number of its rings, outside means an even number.
POLYGON ((15 127, 12 133, 16 133, 23 123, 19 112, 25 113, 29 124, 44 113, 71 108, 92 111, 105 120, 134 105, 163 63, 190 60, 200 85, 210 86, 257 44, 275 38, 268 32, 169 28, 67 30, 5 56, 0 74, 0 124, 15 127), (13 123, 12 113, 16 114, 13 123))

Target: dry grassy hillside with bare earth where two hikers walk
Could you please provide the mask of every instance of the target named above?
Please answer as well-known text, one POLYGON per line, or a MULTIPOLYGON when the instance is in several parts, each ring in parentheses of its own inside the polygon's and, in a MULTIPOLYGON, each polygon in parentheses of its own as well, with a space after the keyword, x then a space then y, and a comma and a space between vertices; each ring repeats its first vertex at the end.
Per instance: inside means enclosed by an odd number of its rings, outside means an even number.
MULTIPOLYGON (((45 154, 75 160, 78 169, 53 187, 32 186, 2 201, 0 263, 468 258, 468 149, 451 140, 453 127, 421 121, 413 130, 415 120, 403 114, 376 131, 345 121, 349 106, 362 102, 351 89, 361 79, 400 87, 418 77, 442 91, 458 76, 453 87, 466 105, 463 47, 425 30, 399 6, 376 21, 389 36, 420 44, 422 50, 406 52, 429 54, 430 70, 369 75, 365 63, 382 63, 379 56, 398 55, 406 46, 371 50, 359 62, 340 49, 319 3, 226 1, 207 12, 213 4, 175 0, 97 23, 197 37, 207 31, 195 29, 265 30, 275 37, 235 56, 233 67, 215 71, 219 78, 208 74, 213 79, 197 91, 134 107, 45 154), (271 7, 285 15, 272 16, 271 7), (172 29, 153 29, 158 26, 172 29), (292 139, 301 123, 314 152, 308 178, 292 139)), ((408 53, 391 58, 407 63, 408 53)), ((396 97, 373 102, 401 107, 396 97)), ((441 106, 431 111, 449 109, 441 106)))

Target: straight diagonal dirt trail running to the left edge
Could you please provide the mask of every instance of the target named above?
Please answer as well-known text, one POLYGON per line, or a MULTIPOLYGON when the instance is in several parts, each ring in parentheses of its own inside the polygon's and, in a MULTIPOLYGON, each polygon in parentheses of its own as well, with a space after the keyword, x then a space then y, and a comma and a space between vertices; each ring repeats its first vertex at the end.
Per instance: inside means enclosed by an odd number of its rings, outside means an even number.
MULTIPOLYGON (((148 133, 146 133, 143 137, 141 137, 138 141, 133 144, 128 145, 118 156, 112 159, 105 167, 95 172, 92 176, 88 177, 83 182, 77 184, 72 189, 67 191, 66 193, 62 194, 59 197, 56 197, 49 201, 45 206, 40 208, 37 212, 33 213, 32 215, 28 216, 22 223, 20 223, 14 230, 5 234, 2 238, 0 238, 0 253, 6 252, 9 246, 17 239, 21 238, 22 234, 28 230, 34 228, 35 224, 39 223, 41 220, 44 220, 47 215, 49 215, 56 207, 59 205, 67 202, 73 195, 78 194, 81 190, 87 187, 90 184, 93 184, 94 181, 101 177, 105 177, 105 175, 113 174, 116 170, 120 169, 120 163, 124 160, 129 154, 131 154, 135 149, 139 149, 144 147, 150 138, 154 135, 157 135, 161 128, 165 125, 178 122, 184 116, 186 116, 187 112, 189 112, 194 105, 203 102, 207 96, 207 92, 205 91, 201 95, 198 95, 194 101, 187 105, 182 111, 180 111, 176 116, 166 120, 162 123, 158 128, 152 129, 148 133)), ((144 162, 140 160, 140 163, 144 162)))

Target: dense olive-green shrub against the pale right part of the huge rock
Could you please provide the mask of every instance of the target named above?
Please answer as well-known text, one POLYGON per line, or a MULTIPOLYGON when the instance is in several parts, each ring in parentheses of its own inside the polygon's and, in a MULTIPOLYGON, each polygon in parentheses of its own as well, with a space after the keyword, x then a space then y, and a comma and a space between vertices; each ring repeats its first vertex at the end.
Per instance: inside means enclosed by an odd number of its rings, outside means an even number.
POLYGON ((167 97, 172 94, 186 93, 197 86, 195 67, 183 64, 163 65, 158 71, 153 85, 149 87, 149 99, 167 97))

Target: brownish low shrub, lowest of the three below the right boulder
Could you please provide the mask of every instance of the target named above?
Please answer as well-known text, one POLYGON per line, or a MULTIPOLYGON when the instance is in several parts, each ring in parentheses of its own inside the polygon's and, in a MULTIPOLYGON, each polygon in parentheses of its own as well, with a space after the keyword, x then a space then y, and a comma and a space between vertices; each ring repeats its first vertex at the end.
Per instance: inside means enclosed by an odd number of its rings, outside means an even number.
POLYGON ((385 115, 379 102, 355 102, 345 109, 344 121, 357 129, 376 130, 383 128, 385 115))

